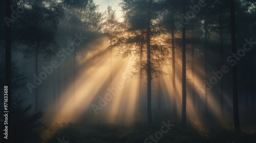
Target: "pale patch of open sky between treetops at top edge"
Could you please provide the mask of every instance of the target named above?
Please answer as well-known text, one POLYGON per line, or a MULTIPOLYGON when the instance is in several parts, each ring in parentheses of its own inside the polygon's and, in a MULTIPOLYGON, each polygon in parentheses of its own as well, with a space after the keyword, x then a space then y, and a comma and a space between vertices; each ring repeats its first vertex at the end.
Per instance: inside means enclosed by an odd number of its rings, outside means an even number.
POLYGON ((94 0, 94 2, 99 5, 99 12, 104 12, 108 8, 108 6, 112 6, 112 9, 116 10, 116 15, 119 20, 122 20, 121 8, 118 6, 118 4, 122 2, 122 0, 94 0))

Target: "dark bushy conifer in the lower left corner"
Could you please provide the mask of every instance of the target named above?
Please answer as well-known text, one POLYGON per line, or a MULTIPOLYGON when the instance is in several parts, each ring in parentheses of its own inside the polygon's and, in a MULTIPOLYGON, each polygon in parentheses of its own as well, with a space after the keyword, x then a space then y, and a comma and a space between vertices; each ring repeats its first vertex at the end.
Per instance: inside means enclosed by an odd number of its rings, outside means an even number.
MULTIPOLYGON (((2 50, 4 51, 4 50, 2 50)), ((5 76, 5 53, 0 53, 0 80, 4 81, 6 79, 5 76)), ((43 112, 39 111, 36 114, 33 114, 31 116, 27 116, 28 111, 31 109, 31 105, 25 106, 24 103, 26 101, 25 98, 23 98, 22 93, 19 93, 18 91, 24 89, 26 86, 26 76, 25 73, 20 74, 20 68, 16 67, 17 62, 11 63, 11 85, 12 85, 12 109, 8 113, 8 139, 2 139, 7 140, 5 142, 18 142, 20 140, 23 140, 25 142, 34 142, 35 140, 44 139, 41 138, 41 129, 43 129, 44 125, 41 124, 39 121, 42 117, 43 112), (12 137, 14 136, 15 137, 12 137), (31 136, 32 135, 32 136, 31 136)), ((1 87, 6 86, 6 83, 1 82, 1 87)), ((9 88, 8 88, 9 93, 9 88)), ((10 95, 9 95, 10 96, 10 95)), ((8 105, 10 97, 8 96, 8 105)), ((4 107, 4 94, 1 95, 0 99, 0 106, 4 107)), ((8 106, 10 108, 10 106, 8 106)), ((4 108, 0 108, 1 112, 4 112, 4 108)), ((0 124, 0 127, 4 128, 6 125, 0 124)), ((3 131, 2 131, 3 132, 3 131)), ((2 133, 1 132, 1 133, 2 133)))

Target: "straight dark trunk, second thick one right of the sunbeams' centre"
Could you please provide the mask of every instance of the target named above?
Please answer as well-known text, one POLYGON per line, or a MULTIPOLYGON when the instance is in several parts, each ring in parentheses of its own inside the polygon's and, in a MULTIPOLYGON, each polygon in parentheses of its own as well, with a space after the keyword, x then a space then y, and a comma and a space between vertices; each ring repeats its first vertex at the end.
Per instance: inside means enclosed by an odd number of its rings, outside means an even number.
MULTIPOLYGON (((186 0, 182 0, 182 13, 186 13, 186 0)), ((182 113, 181 124, 186 128, 186 26, 182 28, 182 113)))

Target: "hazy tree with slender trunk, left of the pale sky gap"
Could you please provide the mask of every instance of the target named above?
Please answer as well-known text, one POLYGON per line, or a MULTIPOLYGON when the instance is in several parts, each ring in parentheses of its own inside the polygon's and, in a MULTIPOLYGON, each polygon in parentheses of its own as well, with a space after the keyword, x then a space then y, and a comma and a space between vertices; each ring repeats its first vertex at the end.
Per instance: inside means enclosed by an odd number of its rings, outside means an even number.
MULTIPOLYGON (((91 33, 90 38, 93 39, 94 33, 100 33, 102 29, 102 13, 99 12, 99 5, 96 5, 93 0, 86 1, 70 1, 64 0, 62 4, 66 8, 67 18, 63 21, 65 25, 70 26, 69 31, 72 32, 69 35, 70 41, 73 42, 73 33, 80 31, 91 33)), ((62 31, 67 31, 67 27, 62 27, 62 31)), ((68 31, 67 31, 68 32, 68 31)), ((87 37, 89 39, 89 37, 87 37)), ((68 44, 67 44, 68 45, 68 44)), ((65 45, 65 46, 67 46, 65 45)), ((84 45, 84 43, 83 43, 84 45)), ((83 49, 84 50, 84 49, 83 49)), ((74 111, 75 111, 75 99, 76 99, 76 69, 77 69, 77 55, 81 54, 81 48, 76 47, 73 52, 73 81, 74 81, 74 111)))

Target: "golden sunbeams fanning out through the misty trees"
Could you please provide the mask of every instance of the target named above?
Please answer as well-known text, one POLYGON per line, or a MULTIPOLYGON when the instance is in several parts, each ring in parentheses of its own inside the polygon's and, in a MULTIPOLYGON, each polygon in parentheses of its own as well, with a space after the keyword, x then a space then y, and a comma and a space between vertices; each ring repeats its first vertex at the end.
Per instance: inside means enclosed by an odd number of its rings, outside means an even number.
MULTIPOLYGON (((161 42, 161 41, 160 41, 161 42)), ((53 118, 53 122, 75 122, 82 114, 89 113, 90 116, 98 118, 99 121, 108 123, 133 123, 135 121, 136 111, 138 110, 140 102, 140 91, 146 91, 146 87, 140 87, 140 79, 132 78, 133 65, 135 63, 133 56, 120 60, 120 57, 113 56, 117 54, 112 50, 112 58, 110 58, 110 50, 103 49, 102 47, 108 47, 108 42, 102 43, 97 47, 97 50, 86 55, 84 59, 78 61, 79 72, 77 74, 76 83, 72 83, 68 86, 65 92, 61 95, 60 111, 53 118), (111 62, 111 63, 110 63, 111 62), (140 89, 142 88, 143 89, 140 89), (75 96, 74 96, 74 91, 75 96), (110 97, 111 96, 111 97, 110 97), (106 105, 101 107, 99 102, 101 99, 105 99, 106 105), (100 109, 97 109, 95 113, 92 108, 92 104, 97 105, 100 109)), ((181 79, 181 55, 176 54, 176 102, 177 102, 177 114, 181 117, 182 109, 182 79, 181 79)), ((187 55, 187 59, 191 56, 187 55)), ((170 58, 169 58, 170 59, 170 58)), ((191 92, 191 85, 193 85, 192 73, 189 68, 190 63, 187 65, 187 82, 186 82, 186 114, 187 119, 198 130, 204 127, 201 120, 201 113, 204 112, 205 106, 205 92, 204 82, 202 81, 204 75, 204 69, 195 65, 195 96, 196 105, 193 105, 193 98, 191 92), (201 89, 202 91, 198 90, 201 89)), ((167 76, 157 79, 160 88, 154 87, 152 90, 162 90, 165 92, 155 91, 152 94, 155 96, 164 97, 160 102, 157 102, 157 98, 153 98, 152 102, 162 104, 170 113, 173 108, 173 87, 172 87, 172 61, 169 60, 167 65, 163 67, 163 71, 167 73, 167 76), (168 100, 165 100, 168 99, 168 100)), ((146 93, 146 92, 144 92, 146 93)), ((218 121, 221 121, 221 115, 219 113, 220 106, 218 104, 218 97, 214 97, 211 91, 208 91, 208 111, 213 113, 218 121)), ((229 101, 230 99, 224 99, 229 101)), ((142 98, 142 106, 146 109, 146 97, 142 98)), ((101 101, 103 104, 104 102, 101 101)), ((156 106, 152 106, 154 111, 156 106)), ((146 113, 146 112, 145 112, 146 113)))

